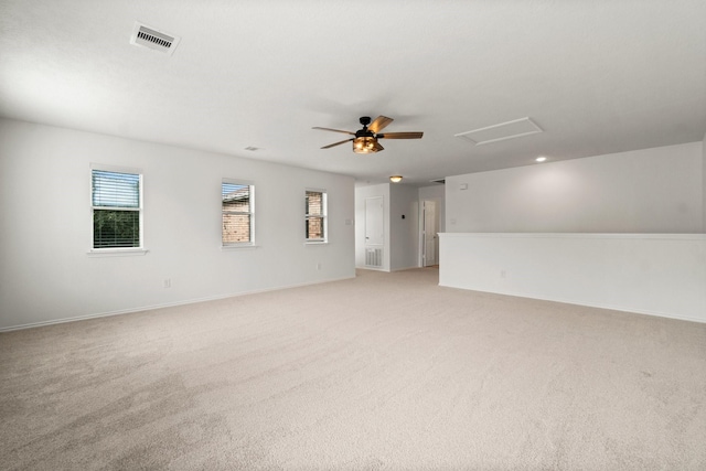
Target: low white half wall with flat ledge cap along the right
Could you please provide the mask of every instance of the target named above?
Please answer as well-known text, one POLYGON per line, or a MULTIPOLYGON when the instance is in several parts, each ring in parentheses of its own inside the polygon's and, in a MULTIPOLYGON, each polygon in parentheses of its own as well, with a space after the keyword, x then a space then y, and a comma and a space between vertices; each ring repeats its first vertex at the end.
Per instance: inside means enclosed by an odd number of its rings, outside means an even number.
POLYGON ((441 235, 439 285, 706 322, 704 234, 441 235))

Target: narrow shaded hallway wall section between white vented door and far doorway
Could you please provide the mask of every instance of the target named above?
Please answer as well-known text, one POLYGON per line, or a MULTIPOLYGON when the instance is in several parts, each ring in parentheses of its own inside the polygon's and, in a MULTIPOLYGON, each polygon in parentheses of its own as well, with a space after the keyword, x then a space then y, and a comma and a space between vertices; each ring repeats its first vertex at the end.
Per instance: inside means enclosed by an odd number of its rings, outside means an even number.
POLYGON ((391 270, 419 267, 419 192, 414 186, 389 186, 391 270))

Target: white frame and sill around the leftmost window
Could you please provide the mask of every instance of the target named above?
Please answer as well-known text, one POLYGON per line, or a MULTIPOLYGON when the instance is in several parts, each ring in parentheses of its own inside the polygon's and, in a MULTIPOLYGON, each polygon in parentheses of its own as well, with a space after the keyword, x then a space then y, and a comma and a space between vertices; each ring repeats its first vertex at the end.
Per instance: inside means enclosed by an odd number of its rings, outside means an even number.
POLYGON ((92 163, 88 172, 89 210, 90 210, 90 249, 89 255, 145 255, 145 174, 141 169, 92 163), (125 173, 138 176, 138 207, 101 206, 94 204, 94 172, 125 173), (138 213, 138 246, 137 247, 96 247, 95 246, 95 212, 125 211, 138 213))

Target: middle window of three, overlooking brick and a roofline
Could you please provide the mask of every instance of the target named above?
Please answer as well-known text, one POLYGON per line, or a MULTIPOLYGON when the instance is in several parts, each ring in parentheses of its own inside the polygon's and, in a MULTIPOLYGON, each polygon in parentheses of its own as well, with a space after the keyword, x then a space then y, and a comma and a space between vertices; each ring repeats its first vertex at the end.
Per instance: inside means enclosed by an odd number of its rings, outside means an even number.
POLYGON ((224 180, 221 183, 223 245, 253 245, 255 236, 255 186, 224 180))

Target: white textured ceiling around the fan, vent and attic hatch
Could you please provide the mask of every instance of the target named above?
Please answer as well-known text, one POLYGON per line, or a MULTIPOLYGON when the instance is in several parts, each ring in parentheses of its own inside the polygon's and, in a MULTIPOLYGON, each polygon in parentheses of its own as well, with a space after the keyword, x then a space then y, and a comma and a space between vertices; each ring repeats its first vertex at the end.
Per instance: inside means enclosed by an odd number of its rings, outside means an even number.
POLYGON ((693 142, 706 1, 0 0, 0 116, 417 185, 693 142), (359 156, 311 129, 378 115, 425 136, 359 156), (544 132, 453 137, 524 117, 544 132))

